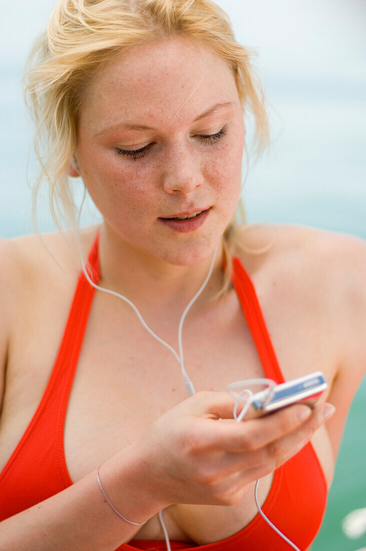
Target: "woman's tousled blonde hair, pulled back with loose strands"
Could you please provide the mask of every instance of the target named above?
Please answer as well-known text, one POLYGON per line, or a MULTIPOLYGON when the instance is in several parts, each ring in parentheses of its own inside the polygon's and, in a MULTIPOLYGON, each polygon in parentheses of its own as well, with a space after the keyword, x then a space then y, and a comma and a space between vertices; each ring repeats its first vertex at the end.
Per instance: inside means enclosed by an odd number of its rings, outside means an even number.
MULTIPOLYGON (((75 228, 76 207, 68 170, 77 147, 78 109, 88 83, 117 53, 170 36, 198 40, 229 64, 244 118, 254 118, 256 158, 269 144, 263 88, 250 62, 255 52, 238 44, 230 19, 214 2, 61 0, 51 13, 47 30, 30 52, 24 75, 26 103, 36 124, 34 150, 41 165, 32 191, 36 227, 37 193, 42 182, 48 181, 51 214, 57 228, 61 231, 58 215, 75 228)), ((224 234, 229 256, 239 210, 224 234)), ((230 271, 231 263, 227 265, 230 271)))

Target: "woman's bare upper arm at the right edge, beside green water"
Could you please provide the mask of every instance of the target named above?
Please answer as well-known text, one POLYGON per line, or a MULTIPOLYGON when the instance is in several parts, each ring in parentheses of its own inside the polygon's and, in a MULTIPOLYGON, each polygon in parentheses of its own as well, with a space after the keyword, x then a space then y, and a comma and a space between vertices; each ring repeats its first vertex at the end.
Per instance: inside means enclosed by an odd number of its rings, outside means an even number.
POLYGON ((327 423, 327 430, 336 458, 348 410, 366 372, 366 242, 336 234, 329 246, 324 270, 329 273, 329 324, 336 328, 339 360, 327 397, 336 412, 327 423))

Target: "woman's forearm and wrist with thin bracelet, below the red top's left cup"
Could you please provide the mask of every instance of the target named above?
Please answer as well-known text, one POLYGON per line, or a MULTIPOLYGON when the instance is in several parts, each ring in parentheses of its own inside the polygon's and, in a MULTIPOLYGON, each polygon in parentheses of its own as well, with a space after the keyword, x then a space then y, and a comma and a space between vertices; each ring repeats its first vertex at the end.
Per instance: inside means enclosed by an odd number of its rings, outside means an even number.
MULTIPOLYGON (((151 491, 146 464, 133 446, 100 469, 106 495, 133 522, 144 522, 166 506, 151 491)), ((14 484, 16 484, 14 480, 14 484)), ((97 485, 96 471, 69 488, 0 523, 0 549, 7 551, 112 551, 131 539, 139 526, 119 518, 97 485)))

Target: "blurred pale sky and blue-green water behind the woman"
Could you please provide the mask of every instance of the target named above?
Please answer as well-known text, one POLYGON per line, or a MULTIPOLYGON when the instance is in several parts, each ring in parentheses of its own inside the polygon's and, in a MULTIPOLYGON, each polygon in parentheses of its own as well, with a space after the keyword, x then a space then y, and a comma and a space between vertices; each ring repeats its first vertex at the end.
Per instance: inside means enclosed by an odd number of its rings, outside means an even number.
MULTIPOLYGON (((294 223, 366 239, 366 3, 363 0, 219 0, 255 64, 271 104, 272 147, 250 171, 248 222, 294 223)), ((2 4, 0 38, 0 235, 33 233, 26 183, 32 126, 20 78, 53 0, 2 4)), ((249 129, 250 133, 250 129, 249 129)), ((28 178, 35 174, 29 159, 28 178)), ((41 231, 53 231, 46 193, 41 231)), ((81 199, 81 195, 79 194, 81 199)), ((83 225, 98 214, 89 202, 83 225)), ((323 526, 312 551, 356 551, 342 518, 366 507, 366 380, 348 416, 323 526)), ((305 474, 305 473, 304 473, 305 474)))

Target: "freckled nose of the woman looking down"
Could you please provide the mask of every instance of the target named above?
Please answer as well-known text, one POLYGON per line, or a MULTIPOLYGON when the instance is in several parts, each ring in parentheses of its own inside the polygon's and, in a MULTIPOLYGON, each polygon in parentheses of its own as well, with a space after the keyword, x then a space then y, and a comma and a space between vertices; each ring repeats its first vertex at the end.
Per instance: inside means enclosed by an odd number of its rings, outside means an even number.
POLYGON ((168 154, 163 172, 163 188, 166 193, 187 195, 203 182, 201 167, 189 148, 176 148, 168 154))

